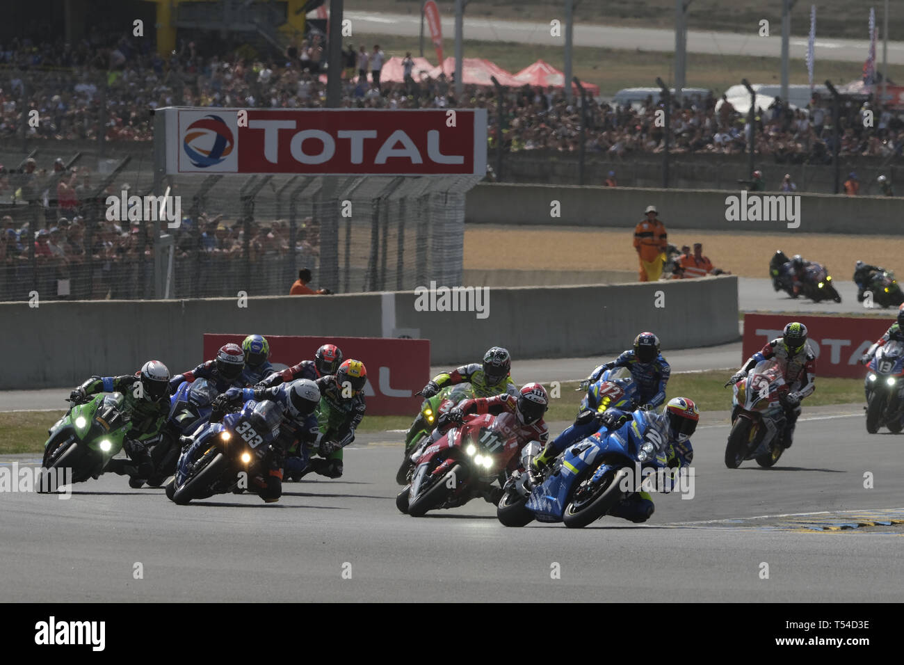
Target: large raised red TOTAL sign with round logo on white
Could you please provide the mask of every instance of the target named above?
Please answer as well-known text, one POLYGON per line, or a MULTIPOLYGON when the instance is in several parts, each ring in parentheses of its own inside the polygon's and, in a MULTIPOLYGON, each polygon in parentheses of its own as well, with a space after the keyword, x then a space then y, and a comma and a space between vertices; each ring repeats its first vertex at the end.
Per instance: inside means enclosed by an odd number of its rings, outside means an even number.
POLYGON ((484 176, 486 109, 184 109, 166 173, 484 176))

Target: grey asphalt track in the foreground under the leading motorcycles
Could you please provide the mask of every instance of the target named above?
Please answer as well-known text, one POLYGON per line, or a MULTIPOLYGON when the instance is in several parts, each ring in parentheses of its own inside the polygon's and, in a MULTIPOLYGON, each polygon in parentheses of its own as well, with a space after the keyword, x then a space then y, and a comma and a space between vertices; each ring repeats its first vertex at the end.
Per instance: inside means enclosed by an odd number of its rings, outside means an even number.
POLYGON ((68 500, 0 493, 0 602, 901 602, 904 436, 839 411, 802 419, 771 470, 726 469, 728 426, 702 425, 693 498, 654 497, 641 526, 506 528, 483 499, 410 518, 389 443, 353 444, 342 479, 287 483, 276 504, 181 507, 110 475, 68 500))

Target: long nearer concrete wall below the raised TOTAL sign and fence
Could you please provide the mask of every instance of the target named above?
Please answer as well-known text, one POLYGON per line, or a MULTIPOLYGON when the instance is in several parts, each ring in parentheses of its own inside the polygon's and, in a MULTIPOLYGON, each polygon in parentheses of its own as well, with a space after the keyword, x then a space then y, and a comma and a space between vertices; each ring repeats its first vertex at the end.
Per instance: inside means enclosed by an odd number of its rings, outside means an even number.
POLYGON ((205 332, 382 337, 417 328, 433 364, 474 360, 495 344, 519 358, 610 354, 642 330, 654 330, 664 348, 739 338, 738 281, 730 276, 489 293, 487 318, 416 311, 410 291, 251 298, 247 308, 236 299, 0 303, 0 344, 9 350, 0 389, 76 385, 92 374, 134 372, 149 358, 181 372, 201 362, 205 332))

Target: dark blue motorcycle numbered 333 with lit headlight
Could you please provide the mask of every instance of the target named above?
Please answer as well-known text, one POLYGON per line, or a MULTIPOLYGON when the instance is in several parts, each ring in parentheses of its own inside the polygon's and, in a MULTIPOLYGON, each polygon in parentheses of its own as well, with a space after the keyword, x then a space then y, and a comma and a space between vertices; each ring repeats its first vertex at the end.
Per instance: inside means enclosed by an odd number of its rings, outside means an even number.
POLYGON ((271 443, 279 435, 283 407, 276 402, 249 400, 222 423, 210 423, 179 457, 166 497, 184 505, 234 489, 249 489, 248 480, 268 472, 271 443), (244 481, 244 482, 243 482, 244 481))

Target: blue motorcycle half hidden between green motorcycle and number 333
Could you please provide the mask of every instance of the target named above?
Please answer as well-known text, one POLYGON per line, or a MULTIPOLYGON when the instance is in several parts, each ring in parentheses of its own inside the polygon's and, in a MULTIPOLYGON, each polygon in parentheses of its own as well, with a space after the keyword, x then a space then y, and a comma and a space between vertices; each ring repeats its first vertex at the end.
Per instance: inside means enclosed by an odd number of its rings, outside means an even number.
MULTIPOLYGON (((149 452, 154 462, 154 473, 147 479, 151 487, 160 487, 175 473, 175 463, 179 459, 182 445, 180 436, 197 432, 211 419, 213 399, 217 389, 207 379, 196 379, 192 383, 183 381, 170 396, 169 418, 160 432, 160 437, 149 452)), ((141 487, 142 479, 130 479, 132 487, 141 487)))

